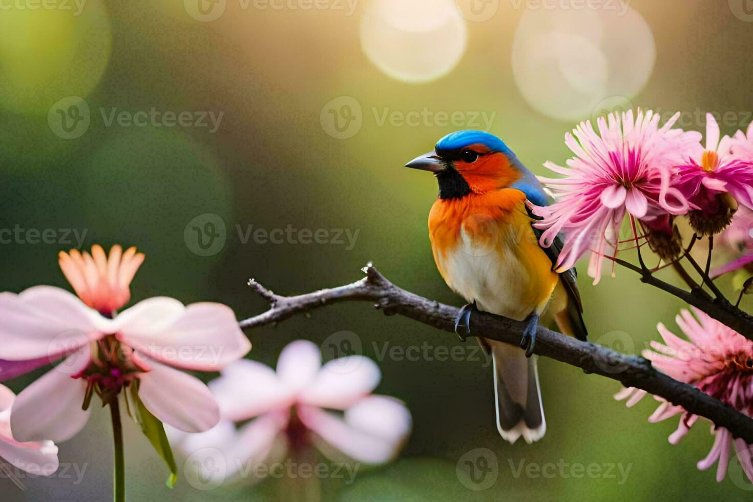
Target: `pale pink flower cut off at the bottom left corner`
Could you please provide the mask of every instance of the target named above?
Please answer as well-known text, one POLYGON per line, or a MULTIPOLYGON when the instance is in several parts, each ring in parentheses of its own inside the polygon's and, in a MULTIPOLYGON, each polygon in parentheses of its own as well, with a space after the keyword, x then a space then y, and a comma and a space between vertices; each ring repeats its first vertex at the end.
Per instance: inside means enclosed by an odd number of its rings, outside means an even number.
POLYGON ((57 446, 52 441, 20 443, 11 433, 11 406, 16 394, 0 385, 0 461, 30 474, 50 476, 58 467, 57 446))

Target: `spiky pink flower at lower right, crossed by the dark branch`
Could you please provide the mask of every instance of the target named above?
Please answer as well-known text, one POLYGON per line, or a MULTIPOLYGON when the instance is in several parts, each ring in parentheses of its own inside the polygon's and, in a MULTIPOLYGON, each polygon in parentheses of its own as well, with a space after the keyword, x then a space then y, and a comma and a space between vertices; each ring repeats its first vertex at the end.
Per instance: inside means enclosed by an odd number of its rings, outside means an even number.
MULTIPOLYGON (((675 336, 660 323, 658 330, 666 345, 652 341, 654 351, 643 351, 643 357, 673 379, 695 385, 727 406, 753 416, 753 342, 700 310, 694 309, 693 312, 697 319, 687 310, 683 310, 676 319, 690 341, 675 336)), ((625 388, 614 397, 617 400, 628 398, 627 406, 633 406, 645 394, 645 391, 636 388, 625 388)), ((692 415, 681 406, 660 397, 654 398, 662 403, 648 421, 658 422, 681 414, 677 431, 669 436, 669 443, 675 445, 697 421, 698 415, 692 415)), ((727 474, 730 449, 734 443, 742 470, 753 482, 751 445, 733 439, 724 428, 717 429, 712 425, 711 434, 715 437, 714 446, 709 455, 698 462, 698 468, 706 470, 718 462, 716 479, 721 482, 727 474)))

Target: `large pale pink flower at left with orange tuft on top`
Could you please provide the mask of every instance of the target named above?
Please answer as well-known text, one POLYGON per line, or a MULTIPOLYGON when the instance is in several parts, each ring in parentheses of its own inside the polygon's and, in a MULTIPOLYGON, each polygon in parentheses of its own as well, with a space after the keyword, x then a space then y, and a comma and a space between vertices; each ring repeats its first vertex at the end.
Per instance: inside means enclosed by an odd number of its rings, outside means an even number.
MULTIPOLYGON (((92 286, 86 291, 94 292, 84 295, 90 306, 52 286, 0 294, 0 376, 13 378, 64 358, 18 395, 11 414, 14 437, 68 440, 89 418, 85 398, 96 392, 108 403, 128 385, 139 386, 139 398, 160 421, 191 432, 213 427, 220 415, 209 388, 171 367, 218 371, 243 357, 251 344, 233 311, 219 303, 183 306, 155 297, 105 317, 91 305, 122 306, 133 273, 120 275, 117 288, 94 287, 114 284, 113 268, 102 266, 98 254, 93 250, 81 269, 92 286)), ((109 263, 118 263, 117 257, 111 254, 109 263)), ((66 275, 71 273, 69 268, 66 275)))

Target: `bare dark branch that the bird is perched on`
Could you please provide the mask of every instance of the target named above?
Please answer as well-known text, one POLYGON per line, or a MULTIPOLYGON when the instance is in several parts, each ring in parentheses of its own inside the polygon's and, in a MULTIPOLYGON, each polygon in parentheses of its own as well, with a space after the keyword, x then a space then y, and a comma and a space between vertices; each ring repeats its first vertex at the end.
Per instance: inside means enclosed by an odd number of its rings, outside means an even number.
MULTIPOLYGON (((296 297, 279 296, 251 279, 248 285, 269 301, 271 307, 263 314, 241 321, 240 327, 245 329, 273 324, 297 313, 333 303, 369 301, 386 315, 404 315, 414 321, 455 333, 458 309, 398 288, 370 263, 363 271, 366 277, 360 281, 296 297)), ((483 334, 485 338, 517 346, 520 346, 523 330, 526 329, 524 322, 477 311, 471 314, 471 326, 474 336, 483 334)), ((643 357, 620 354, 592 342, 581 342, 543 326, 538 328, 534 353, 582 368, 587 373, 617 380, 625 387, 639 388, 663 397, 688 412, 708 418, 718 427, 726 428, 734 437, 753 443, 753 419, 725 406, 692 385, 678 382, 654 370, 651 363, 643 357)))

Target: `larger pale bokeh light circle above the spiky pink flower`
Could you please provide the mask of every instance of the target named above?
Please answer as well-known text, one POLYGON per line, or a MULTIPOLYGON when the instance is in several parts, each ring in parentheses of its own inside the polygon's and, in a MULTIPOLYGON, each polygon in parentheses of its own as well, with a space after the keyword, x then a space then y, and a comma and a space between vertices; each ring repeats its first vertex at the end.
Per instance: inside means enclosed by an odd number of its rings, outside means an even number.
MULTIPOLYGON (((580 5, 580 4, 578 4, 580 5)), ((656 61, 648 23, 623 2, 600 8, 529 9, 512 49, 518 90, 532 108, 559 120, 591 117, 605 99, 629 102, 656 61)))

